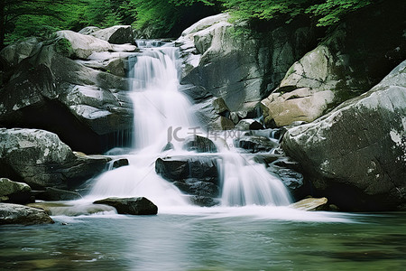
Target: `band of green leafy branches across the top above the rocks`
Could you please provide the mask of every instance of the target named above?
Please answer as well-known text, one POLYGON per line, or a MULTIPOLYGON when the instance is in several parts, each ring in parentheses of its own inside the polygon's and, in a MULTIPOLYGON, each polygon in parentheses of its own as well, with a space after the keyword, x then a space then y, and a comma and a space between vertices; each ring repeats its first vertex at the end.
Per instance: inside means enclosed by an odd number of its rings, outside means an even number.
MULTIPOLYGON (((346 14, 385 0, 0 0, 0 48, 29 35, 78 31, 94 25, 133 24, 155 36, 176 37, 190 24, 227 11, 235 19, 290 23, 298 15, 318 26, 338 23, 346 14)), ((386 0, 391 1, 391 0, 386 0)))

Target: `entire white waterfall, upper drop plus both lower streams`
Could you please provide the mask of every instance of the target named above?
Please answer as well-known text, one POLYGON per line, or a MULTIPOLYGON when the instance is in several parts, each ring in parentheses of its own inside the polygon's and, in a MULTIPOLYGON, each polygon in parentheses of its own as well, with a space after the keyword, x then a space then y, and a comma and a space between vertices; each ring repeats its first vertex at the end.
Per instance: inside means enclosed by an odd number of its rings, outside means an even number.
MULTIPOLYGON (((179 127, 185 133, 191 127, 199 126, 189 112, 191 105, 188 98, 178 90, 178 50, 172 43, 163 46, 161 42, 137 43, 143 46, 142 51, 128 61, 130 96, 134 103, 133 153, 126 155, 130 165, 100 175, 89 197, 144 196, 160 208, 185 206, 189 204, 188 196, 171 182, 163 180, 155 173, 154 167, 156 159, 165 155, 208 155, 188 153, 182 150, 181 142, 177 140, 171 141, 174 149, 161 153, 162 147, 169 141, 169 131, 179 127)), ((256 164, 244 154, 231 150, 224 150, 217 157, 222 205, 290 203, 289 192, 279 179, 266 171, 263 164, 256 164)))

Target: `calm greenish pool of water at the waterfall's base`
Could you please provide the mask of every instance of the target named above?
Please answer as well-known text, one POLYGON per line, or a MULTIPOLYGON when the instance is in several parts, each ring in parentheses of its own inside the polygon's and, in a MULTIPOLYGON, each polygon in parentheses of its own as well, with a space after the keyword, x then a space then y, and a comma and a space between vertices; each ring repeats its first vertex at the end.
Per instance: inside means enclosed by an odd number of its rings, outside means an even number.
POLYGON ((292 220, 283 210, 266 208, 200 210, 2 226, 1 269, 401 270, 406 265, 404 212, 301 212, 304 218, 292 220))

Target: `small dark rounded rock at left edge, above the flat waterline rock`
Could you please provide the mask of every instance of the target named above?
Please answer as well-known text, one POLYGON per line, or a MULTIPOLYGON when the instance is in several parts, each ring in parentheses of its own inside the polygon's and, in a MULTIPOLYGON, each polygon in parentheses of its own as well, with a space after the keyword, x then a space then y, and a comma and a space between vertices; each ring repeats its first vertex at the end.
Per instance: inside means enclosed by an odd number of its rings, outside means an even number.
POLYGON ((0 178, 0 201, 27 203, 31 198, 31 187, 23 182, 0 178))

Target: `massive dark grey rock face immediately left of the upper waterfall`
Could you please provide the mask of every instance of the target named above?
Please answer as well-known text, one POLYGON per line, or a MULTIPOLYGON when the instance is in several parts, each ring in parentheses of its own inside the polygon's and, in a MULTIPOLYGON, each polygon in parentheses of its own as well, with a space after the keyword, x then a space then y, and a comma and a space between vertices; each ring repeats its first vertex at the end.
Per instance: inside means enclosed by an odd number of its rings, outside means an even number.
POLYGON ((135 46, 69 31, 56 37, 38 44, 5 81, 0 125, 50 130, 86 153, 106 151, 120 135, 130 138, 133 106, 123 76, 135 46))

